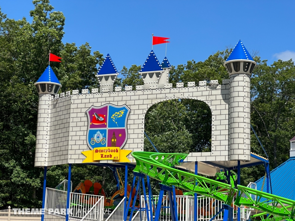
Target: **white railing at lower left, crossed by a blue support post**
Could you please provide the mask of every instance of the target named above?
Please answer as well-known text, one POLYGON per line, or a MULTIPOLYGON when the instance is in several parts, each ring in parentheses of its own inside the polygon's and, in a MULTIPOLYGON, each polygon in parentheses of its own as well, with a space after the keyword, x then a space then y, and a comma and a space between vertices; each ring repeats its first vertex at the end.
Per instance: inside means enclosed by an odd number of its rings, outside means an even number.
MULTIPOLYGON (((53 215, 66 214, 67 192, 46 188, 45 212, 53 215)), ((103 220, 104 196, 70 193, 69 216, 79 220, 103 220)))

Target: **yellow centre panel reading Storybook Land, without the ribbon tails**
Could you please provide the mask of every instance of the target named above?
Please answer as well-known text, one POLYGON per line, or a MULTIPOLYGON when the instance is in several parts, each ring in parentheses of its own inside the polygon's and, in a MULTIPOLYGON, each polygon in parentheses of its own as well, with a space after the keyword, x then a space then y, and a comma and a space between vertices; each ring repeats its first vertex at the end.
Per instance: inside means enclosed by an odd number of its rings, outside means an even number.
POLYGON ((97 147, 93 150, 93 160, 119 160, 119 147, 97 147))

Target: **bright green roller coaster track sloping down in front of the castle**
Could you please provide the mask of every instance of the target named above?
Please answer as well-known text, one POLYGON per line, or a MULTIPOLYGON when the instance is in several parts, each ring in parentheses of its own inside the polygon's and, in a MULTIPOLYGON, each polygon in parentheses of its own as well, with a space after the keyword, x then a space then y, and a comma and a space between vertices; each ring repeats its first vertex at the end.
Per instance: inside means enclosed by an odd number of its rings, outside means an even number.
POLYGON ((203 196, 223 201, 228 205, 232 204, 233 197, 236 195, 237 197, 234 202, 236 206, 246 206, 262 211, 262 213, 253 215, 251 220, 295 221, 294 200, 241 185, 237 185, 237 188, 235 188, 226 183, 174 168, 174 165, 179 165, 179 162, 185 159, 187 154, 133 152, 131 155, 136 160, 135 172, 153 177, 159 180, 161 184, 186 189, 203 196), (240 194, 238 196, 237 193, 239 191, 240 194), (251 195, 255 195, 256 199, 253 200, 251 195))

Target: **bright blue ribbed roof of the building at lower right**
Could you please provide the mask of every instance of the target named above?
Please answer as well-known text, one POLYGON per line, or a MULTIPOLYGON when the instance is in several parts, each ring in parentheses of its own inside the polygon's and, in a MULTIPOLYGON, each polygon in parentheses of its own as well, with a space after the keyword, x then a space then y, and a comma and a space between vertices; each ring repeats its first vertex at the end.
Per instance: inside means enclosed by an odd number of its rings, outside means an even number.
MULTIPOLYGON (((271 186, 273 194, 280 197, 295 200, 295 157, 290 158, 280 166, 271 171, 271 186)), ((264 176, 258 179, 255 183, 257 189, 261 190, 264 176)), ((263 192, 266 192, 266 179, 263 185, 263 192)), ((271 189, 269 187, 269 192, 271 189)))

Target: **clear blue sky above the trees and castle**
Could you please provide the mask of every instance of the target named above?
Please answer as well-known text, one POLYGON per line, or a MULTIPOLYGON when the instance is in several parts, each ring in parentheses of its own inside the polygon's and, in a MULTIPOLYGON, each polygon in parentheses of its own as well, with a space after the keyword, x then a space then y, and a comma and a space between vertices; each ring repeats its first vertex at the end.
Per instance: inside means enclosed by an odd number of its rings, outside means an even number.
MULTIPOLYGON (((242 40, 248 51, 258 50, 268 64, 295 59, 295 1, 91 1, 51 0, 65 15, 63 42, 109 53, 116 67, 142 65, 155 36, 170 37, 171 65, 204 61, 217 50, 242 40)), ((30 0, 0 2, 7 17, 28 21, 30 0)), ((165 44, 154 45, 159 59, 165 44)))

